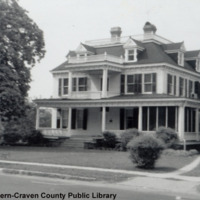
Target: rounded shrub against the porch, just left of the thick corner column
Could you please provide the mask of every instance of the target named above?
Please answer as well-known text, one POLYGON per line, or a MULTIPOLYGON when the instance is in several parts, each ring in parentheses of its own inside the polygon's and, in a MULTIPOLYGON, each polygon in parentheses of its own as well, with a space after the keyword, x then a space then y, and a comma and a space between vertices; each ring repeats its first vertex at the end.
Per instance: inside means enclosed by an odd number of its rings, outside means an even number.
POLYGON ((165 144, 166 148, 173 148, 178 141, 177 133, 171 128, 159 127, 156 131, 156 137, 165 144))

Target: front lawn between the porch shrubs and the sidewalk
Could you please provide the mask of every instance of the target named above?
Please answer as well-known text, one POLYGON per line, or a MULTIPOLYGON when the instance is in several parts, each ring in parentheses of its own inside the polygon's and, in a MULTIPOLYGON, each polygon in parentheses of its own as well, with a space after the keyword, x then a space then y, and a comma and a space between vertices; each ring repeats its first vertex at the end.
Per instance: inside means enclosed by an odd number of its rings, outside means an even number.
MULTIPOLYGON (((156 163, 155 169, 148 171, 154 173, 171 172, 189 164, 195 158, 196 156, 182 157, 163 155, 156 163)), ((138 169, 130 161, 128 152, 108 150, 4 146, 0 147, 0 159, 108 169, 123 169, 131 171, 147 171, 138 169)), ((2 164, 0 167, 2 167, 2 164)))

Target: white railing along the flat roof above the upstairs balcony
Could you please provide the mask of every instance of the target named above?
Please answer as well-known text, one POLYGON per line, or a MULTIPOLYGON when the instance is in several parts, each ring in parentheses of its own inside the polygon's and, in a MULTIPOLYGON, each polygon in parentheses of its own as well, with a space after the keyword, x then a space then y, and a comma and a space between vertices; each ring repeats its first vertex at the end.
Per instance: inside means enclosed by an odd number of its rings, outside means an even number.
POLYGON ((101 62, 101 61, 109 61, 109 62, 114 62, 118 64, 123 64, 124 58, 123 56, 117 57, 113 55, 108 55, 107 53, 99 54, 99 55, 68 57, 69 63, 87 63, 87 62, 101 62))

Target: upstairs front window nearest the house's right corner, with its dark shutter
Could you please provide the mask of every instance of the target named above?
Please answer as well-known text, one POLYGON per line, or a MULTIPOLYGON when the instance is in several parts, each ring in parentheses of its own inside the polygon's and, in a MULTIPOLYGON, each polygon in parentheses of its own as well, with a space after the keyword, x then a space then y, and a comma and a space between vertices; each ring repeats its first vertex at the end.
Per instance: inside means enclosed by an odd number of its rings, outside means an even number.
POLYGON ((144 92, 156 92, 156 73, 144 75, 144 92))

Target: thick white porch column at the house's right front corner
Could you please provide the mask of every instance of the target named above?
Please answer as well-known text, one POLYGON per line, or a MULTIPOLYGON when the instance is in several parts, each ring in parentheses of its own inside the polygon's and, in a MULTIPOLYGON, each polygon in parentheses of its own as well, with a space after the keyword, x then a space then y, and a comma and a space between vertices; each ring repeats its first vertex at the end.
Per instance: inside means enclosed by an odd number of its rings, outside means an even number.
POLYGON ((179 106, 178 109, 178 134, 180 140, 184 139, 184 120, 185 119, 185 107, 179 106))

